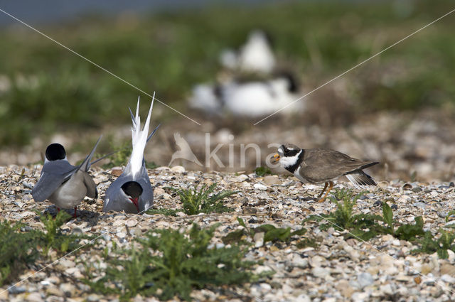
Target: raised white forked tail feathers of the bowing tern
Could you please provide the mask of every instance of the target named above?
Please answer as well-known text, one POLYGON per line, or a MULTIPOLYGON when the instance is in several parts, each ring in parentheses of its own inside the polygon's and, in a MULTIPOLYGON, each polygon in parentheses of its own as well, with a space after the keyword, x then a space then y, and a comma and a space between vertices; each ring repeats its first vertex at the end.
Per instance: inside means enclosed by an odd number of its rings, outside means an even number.
POLYGON ((131 128, 133 151, 126 168, 126 171, 132 173, 133 179, 138 176, 138 173, 142 168, 142 163, 144 162, 144 149, 147 143, 147 136, 149 135, 149 124, 151 111, 154 107, 154 100, 155 93, 151 100, 149 115, 147 116, 146 122, 144 123, 144 128, 141 130, 141 117, 139 117, 139 97, 137 98, 136 117, 134 117, 133 126, 131 128))

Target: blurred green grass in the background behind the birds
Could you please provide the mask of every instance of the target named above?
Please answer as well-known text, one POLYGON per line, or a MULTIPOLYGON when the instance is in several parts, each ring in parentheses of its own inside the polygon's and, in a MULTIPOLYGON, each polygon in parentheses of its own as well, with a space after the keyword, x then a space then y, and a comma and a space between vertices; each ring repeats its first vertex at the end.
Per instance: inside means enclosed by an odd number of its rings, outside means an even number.
MULTIPOLYGON (((31 25, 191 116, 191 87, 213 81, 220 51, 238 48, 255 28, 269 33, 277 58, 312 90, 453 6, 449 0, 208 2, 31 25)), ((454 28, 455 15, 447 16, 345 75, 355 110, 453 110, 454 28)), ((139 94, 134 88, 20 23, 2 26, 0 41, 1 146, 129 124, 125 110, 139 94)), ((161 121, 174 117, 163 107, 161 121)))

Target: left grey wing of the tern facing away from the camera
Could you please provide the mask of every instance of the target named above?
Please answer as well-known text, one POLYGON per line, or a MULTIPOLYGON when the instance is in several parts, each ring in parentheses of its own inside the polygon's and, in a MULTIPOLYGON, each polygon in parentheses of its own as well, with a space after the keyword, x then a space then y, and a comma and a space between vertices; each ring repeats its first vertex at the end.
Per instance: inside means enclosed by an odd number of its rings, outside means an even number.
POLYGON ((33 190, 31 190, 33 199, 38 202, 48 199, 60 185, 70 179, 76 169, 75 166, 65 160, 49 161, 45 163, 38 183, 36 183, 33 190))

